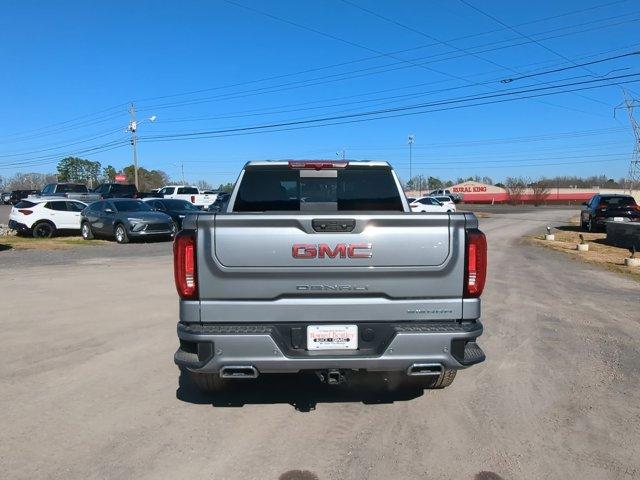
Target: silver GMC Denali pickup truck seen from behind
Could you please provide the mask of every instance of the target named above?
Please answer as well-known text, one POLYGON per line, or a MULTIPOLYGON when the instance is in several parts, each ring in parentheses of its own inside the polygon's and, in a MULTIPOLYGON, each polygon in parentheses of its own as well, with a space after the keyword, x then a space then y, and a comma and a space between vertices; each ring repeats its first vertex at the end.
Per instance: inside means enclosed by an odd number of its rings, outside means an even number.
POLYGON ((485 358, 486 254, 475 215, 412 213, 386 162, 250 162, 176 236, 175 363, 205 391, 301 371, 446 387, 485 358))

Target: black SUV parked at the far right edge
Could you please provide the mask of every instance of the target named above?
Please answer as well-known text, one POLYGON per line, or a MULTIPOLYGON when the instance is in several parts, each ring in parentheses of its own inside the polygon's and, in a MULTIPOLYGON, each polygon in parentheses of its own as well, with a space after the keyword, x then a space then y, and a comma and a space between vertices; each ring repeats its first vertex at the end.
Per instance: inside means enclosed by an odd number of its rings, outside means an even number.
POLYGON ((590 232, 604 228, 607 220, 640 221, 640 207, 631 195, 594 195, 582 205, 580 225, 590 232))

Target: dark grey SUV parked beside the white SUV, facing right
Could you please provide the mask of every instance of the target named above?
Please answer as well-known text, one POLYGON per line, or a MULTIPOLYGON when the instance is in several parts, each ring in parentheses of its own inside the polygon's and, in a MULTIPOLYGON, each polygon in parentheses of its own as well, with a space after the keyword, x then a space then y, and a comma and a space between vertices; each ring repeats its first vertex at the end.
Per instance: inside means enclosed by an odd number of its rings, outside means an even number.
POLYGON ((80 233, 85 240, 96 236, 127 243, 134 238, 168 239, 175 232, 169 215, 154 212, 142 200, 100 200, 85 208, 80 218, 80 233))

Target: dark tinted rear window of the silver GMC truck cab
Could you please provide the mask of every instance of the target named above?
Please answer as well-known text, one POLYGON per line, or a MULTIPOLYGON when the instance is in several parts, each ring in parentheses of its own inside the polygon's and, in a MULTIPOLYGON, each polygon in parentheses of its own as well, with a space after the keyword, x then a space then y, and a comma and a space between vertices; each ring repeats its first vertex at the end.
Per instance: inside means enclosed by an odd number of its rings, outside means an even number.
POLYGON ((390 167, 292 169, 248 166, 234 212, 403 211, 390 167))

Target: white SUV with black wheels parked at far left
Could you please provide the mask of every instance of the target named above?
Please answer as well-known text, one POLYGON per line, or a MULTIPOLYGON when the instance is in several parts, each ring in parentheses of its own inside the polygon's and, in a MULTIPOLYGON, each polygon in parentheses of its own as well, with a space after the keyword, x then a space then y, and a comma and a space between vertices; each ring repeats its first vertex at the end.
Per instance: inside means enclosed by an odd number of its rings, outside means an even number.
POLYGON ((80 212, 87 206, 79 200, 30 198, 18 202, 9 215, 9 228, 35 238, 49 238, 58 230, 80 231, 80 212))

